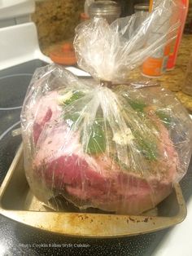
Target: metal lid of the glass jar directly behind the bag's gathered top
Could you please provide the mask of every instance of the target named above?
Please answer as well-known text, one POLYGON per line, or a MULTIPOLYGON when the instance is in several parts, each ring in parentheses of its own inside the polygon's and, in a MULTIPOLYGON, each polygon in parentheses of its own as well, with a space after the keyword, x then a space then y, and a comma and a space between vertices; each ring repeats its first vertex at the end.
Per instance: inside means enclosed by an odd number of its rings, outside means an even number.
POLYGON ((89 6, 89 15, 120 15, 120 5, 114 1, 96 1, 89 6))

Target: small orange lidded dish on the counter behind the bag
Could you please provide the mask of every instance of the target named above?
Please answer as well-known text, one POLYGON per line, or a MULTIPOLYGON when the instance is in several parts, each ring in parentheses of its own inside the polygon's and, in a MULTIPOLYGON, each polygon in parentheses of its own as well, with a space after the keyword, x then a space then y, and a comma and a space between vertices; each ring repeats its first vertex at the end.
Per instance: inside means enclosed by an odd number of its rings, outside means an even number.
POLYGON ((50 52, 50 59, 57 64, 76 64, 76 55, 72 43, 65 42, 62 46, 55 47, 55 50, 50 52))

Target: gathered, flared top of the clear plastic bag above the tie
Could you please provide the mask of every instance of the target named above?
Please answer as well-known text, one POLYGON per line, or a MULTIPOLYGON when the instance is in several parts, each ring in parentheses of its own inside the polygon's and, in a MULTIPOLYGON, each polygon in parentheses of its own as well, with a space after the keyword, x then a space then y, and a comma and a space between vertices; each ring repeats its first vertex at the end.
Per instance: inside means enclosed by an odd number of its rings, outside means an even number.
POLYGON ((170 20, 179 8, 176 1, 162 1, 139 25, 139 13, 112 24, 102 18, 80 24, 74 40, 78 65, 95 79, 126 82, 129 71, 176 38, 180 21, 170 20), (159 19, 164 22, 157 26, 159 19))

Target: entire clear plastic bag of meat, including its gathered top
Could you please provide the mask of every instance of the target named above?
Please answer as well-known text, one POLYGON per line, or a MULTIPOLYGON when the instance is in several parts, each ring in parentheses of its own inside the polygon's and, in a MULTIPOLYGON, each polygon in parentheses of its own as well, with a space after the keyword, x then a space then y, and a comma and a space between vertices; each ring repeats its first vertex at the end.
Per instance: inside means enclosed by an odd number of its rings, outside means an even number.
POLYGON ((55 64, 34 73, 21 113, 24 166, 34 195, 51 208, 141 214, 185 175, 192 139, 185 108, 160 86, 123 84, 161 46, 147 38, 162 8, 136 30, 135 15, 123 18, 125 27, 122 19, 95 19, 76 29, 79 63, 95 79, 55 64))

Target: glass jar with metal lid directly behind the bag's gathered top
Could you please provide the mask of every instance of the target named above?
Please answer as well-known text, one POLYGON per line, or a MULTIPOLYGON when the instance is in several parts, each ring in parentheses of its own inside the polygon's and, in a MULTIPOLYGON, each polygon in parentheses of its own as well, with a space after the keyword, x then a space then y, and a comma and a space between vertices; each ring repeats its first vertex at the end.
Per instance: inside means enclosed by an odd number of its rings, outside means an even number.
POLYGON ((88 9, 90 18, 102 17, 111 24, 120 17, 120 4, 114 1, 92 2, 88 9))

